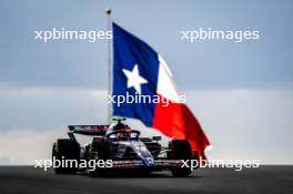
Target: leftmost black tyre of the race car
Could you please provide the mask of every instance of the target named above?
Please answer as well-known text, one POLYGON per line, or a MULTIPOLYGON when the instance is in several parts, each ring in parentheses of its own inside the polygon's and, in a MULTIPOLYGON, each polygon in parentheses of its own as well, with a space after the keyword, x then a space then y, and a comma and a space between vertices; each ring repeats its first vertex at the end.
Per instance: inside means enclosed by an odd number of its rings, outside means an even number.
POLYGON ((57 174, 74 174, 78 171, 78 162, 80 157, 80 145, 70 139, 59 139, 53 144, 52 159, 55 160, 53 170, 57 174), (68 166, 62 166, 62 161, 68 166), (70 161, 69 161, 70 160, 70 161))

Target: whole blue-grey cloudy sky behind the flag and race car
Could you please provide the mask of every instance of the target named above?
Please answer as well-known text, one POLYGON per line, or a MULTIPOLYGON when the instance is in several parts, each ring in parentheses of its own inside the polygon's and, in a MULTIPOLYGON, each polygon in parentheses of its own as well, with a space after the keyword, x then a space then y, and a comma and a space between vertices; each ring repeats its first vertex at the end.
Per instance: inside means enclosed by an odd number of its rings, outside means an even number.
POLYGON ((107 42, 34 40, 36 30, 105 30, 107 7, 163 55, 214 145, 213 157, 293 163, 289 0, 1 1, 0 163, 50 157, 67 124, 107 121, 107 42), (200 27, 259 30, 260 40, 180 39, 182 30, 200 27))

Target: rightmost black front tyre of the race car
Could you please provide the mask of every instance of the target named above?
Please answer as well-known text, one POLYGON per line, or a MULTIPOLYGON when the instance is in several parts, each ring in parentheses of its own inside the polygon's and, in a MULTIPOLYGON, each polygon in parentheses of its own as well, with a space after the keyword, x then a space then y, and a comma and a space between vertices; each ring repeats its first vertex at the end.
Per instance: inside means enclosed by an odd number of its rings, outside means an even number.
MULTIPOLYGON (((192 150, 186 140, 172 140, 169 144, 171 152, 169 159, 171 160, 192 160, 192 150)), ((189 176, 191 174, 190 167, 174 167, 171 169, 174 176, 189 176)))

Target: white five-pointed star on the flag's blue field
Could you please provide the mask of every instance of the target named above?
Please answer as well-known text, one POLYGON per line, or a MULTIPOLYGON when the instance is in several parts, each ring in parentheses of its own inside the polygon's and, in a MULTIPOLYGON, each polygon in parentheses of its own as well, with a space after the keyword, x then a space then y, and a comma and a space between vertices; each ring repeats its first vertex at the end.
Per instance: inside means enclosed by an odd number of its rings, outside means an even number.
POLYGON ((141 94, 141 84, 148 83, 148 81, 140 75, 138 64, 134 64, 133 70, 122 70, 128 78, 128 88, 133 86, 139 94, 141 94))

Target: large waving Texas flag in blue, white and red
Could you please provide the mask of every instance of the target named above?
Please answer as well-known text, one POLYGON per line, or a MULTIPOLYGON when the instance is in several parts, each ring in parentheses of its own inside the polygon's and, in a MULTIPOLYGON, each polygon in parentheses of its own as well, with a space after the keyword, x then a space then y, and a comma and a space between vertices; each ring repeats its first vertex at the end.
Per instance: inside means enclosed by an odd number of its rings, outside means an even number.
POLYGON ((117 23, 113 23, 113 47, 112 96, 153 98, 150 103, 113 103, 113 115, 138 119, 169 137, 186 139, 199 156, 204 156, 210 142, 195 116, 181 102, 163 58, 117 23), (169 105, 163 103, 166 100, 169 105))

